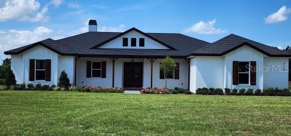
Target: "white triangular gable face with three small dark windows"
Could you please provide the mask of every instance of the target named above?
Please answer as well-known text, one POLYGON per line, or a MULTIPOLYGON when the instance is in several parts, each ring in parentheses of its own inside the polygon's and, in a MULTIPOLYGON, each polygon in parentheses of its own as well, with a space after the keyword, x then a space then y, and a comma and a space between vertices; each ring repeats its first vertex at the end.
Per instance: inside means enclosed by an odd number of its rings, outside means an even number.
POLYGON ((124 34, 112 41, 101 45, 98 48, 105 48, 105 49, 169 49, 168 47, 152 40, 149 37, 146 37, 143 34, 140 34, 136 31, 131 31, 127 34, 124 34), (128 38, 128 46, 122 46, 122 39, 128 38), (131 47, 130 38, 136 38, 136 47, 131 47), (139 38, 145 38, 145 47, 139 47, 139 38))

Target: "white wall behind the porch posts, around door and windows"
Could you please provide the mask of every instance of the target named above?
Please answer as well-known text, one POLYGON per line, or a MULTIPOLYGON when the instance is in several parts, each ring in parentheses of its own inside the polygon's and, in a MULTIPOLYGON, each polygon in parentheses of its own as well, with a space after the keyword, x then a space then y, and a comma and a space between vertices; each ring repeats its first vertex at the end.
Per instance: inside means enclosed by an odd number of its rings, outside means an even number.
MULTIPOLYGON (((123 87, 124 62, 131 62, 131 59, 122 58, 115 62, 114 86, 123 87)), ((134 59, 134 62, 143 62, 143 87, 150 87, 150 62, 147 59, 134 59)), ((157 59, 153 65, 153 87, 164 87, 165 80, 160 79, 160 62, 157 59)), ((179 63, 179 79, 168 79, 167 87, 188 87, 188 63, 183 59, 175 59, 179 63)), ((108 58, 80 58, 77 61, 77 85, 112 86, 112 61, 108 58), (86 78, 87 61, 106 61, 106 78, 86 78)))

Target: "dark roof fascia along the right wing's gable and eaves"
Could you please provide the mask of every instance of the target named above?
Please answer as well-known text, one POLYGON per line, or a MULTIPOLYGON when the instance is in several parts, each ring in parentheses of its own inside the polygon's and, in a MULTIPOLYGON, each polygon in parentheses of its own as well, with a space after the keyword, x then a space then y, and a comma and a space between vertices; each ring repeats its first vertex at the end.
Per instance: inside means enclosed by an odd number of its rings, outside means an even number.
POLYGON ((243 42, 242 44, 240 44, 240 45, 238 45, 238 46, 236 46, 234 48, 231 48, 231 49, 229 49, 227 51, 224 51, 224 52, 222 52, 220 54, 217 54, 217 53, 191 53, 191 54, 187 55, 186 57, 188 58, 188 57, 191 57, 191 56, 223 56, 223 55, 225 55, 225 54, 227 54, 227 53, 229 53, 231 51, 234 51, 236 49, 241 48, 244 45, 246 45, 246 46, 248 46, 250 48, 253 48, 256 51, 259 51, 259 52, 261 52, 261 53, 263 53, 263 54, 265 54, 265 55, 267 55, 269 57, 291 57, 291 54, 290 55, 288 55, 288 54, 270 54, 270 53, 268 53, 266 51, 263 51, 263 50, 255 47, 255 46, 253 46, 252 44, 250 44, 248 42, 243 42))

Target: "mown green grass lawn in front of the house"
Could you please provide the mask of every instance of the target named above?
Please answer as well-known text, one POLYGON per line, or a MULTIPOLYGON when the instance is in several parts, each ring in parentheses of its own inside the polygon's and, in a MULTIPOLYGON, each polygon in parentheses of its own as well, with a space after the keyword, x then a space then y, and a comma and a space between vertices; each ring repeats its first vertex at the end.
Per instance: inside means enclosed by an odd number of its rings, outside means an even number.
POLYGON ((291 135, 291 97, 0 91, 0 135, 291 135))

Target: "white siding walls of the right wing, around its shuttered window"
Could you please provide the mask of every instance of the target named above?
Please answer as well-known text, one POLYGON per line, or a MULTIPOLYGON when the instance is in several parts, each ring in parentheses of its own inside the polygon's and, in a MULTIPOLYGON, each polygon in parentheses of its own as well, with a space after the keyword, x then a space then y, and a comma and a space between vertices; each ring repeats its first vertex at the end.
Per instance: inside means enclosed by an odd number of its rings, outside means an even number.
POLYGON ((190 59, 190 90, 195 92, 199 87, 219 88, 253 88, 267 87, 288 88, 288 58, 268 57, 248 46, 231 51, 224 56, 194 56, 190 59), (256 85, 233 85, 233 61, 256 61, 259 68, 256 72, 256 85), (263 71, 263 67, 280 66, 281 71, 263 71))

